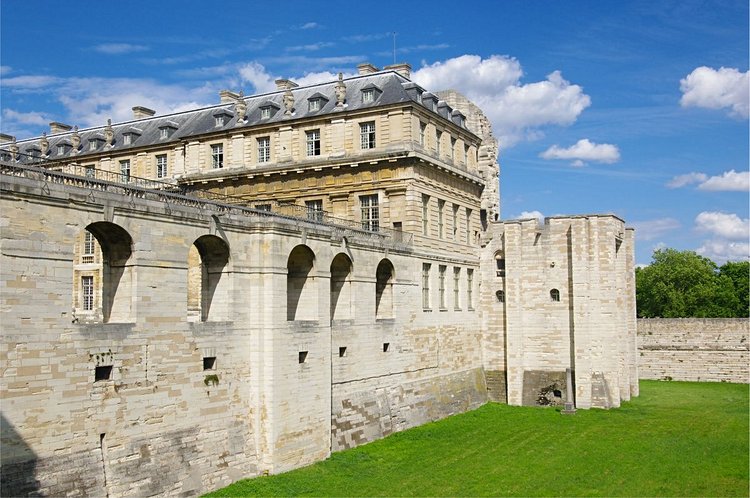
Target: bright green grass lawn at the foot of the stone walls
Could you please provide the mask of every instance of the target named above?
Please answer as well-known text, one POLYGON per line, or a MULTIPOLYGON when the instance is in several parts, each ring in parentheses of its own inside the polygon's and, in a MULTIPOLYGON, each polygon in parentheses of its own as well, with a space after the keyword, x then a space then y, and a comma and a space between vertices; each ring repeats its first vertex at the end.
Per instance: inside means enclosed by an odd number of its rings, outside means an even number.
POLYGON ((478 410, 207 496, 748 496, 748 385, 641 381, 613 410, 478 410))

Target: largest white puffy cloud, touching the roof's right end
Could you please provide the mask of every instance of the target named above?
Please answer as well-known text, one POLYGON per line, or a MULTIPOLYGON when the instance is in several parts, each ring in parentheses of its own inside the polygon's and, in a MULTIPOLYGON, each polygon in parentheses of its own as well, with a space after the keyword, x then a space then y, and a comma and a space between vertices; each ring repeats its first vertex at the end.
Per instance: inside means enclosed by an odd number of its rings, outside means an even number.
POLYGON ((501 55, 462 55, 425 65, 412 80, 433 91, 454 89, 481 107, 501 147, 540 136, 548 125, 569 125, 591 105, 583 88, 554 71, 544 81, 521 83, 518 60, 501 55))

